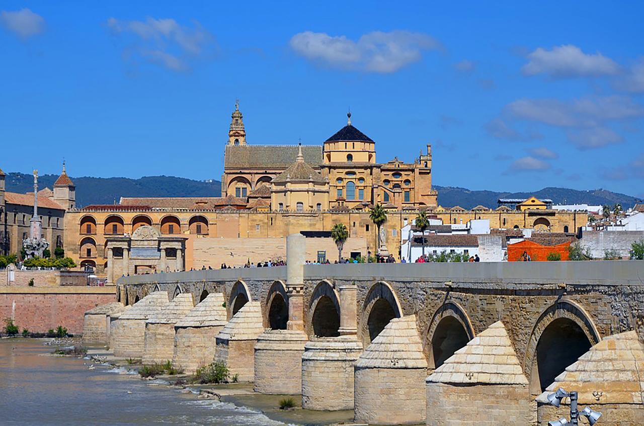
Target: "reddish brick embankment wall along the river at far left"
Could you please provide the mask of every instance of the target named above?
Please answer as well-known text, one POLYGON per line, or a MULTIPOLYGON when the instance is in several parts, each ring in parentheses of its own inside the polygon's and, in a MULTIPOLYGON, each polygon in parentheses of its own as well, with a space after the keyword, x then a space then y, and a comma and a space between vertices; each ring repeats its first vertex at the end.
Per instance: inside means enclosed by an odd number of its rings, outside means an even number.
POLYGON ((0 321, 13 319, 21 331, 46 333, 62 326, 69 333, 79 335, 83 331, 85 311, 115 301, 113 291, 105 287, 0 288, 0 321))

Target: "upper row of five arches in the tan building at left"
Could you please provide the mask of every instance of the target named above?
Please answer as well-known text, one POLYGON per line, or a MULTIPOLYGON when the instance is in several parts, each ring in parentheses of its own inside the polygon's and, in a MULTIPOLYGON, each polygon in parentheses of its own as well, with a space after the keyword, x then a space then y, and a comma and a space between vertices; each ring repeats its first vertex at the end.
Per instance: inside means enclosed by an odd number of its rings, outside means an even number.
MULTIPOLYGON (((103 234, 106 235, 122 235, 125 232, 125 221, 118 215, 111 215, 105 218, 103 225, 103 234)), ((144 225, 152 226, 152 219, 145 215, 140 214, 132 218, 128 223, 131 227, 131 232, 135 232, 137 228, 144 225)), ((202 215, 195 215, 188 219, 187 223, 183 223, 180 219, 173 215, 167 215, 159 221, 159 228, 161 234, 181 234, 182 225, 187 225, 190 234, 208 234, 208 219, 202 215)), ((91 215, 86 215, 81 218, 80 225, 81 235, 95 235, 97 234, 97 221, 91 215)))

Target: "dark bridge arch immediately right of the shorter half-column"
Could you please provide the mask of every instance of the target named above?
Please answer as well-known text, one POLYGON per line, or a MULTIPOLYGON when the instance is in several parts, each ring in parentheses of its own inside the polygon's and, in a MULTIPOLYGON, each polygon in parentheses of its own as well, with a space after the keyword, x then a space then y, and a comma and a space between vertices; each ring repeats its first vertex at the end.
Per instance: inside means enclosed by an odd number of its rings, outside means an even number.
POLYGON ((403 308, 392 286, 376 282, 366 295, 360 315, 360 331, 365 347, 383 331, 390 320, 403 316, 403 308))

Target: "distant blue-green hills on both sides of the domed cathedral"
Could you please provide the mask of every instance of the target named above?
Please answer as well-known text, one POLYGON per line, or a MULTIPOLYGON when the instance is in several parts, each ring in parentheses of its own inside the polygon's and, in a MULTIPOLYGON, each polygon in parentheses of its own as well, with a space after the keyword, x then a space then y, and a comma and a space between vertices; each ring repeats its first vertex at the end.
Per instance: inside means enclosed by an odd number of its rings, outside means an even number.
MULTIPOLYGON (((41 188, 53 188, 58 178, 54 174, 39 176, 41 188)), ((198 181, 174 176, 145 176, 140 179, 129 178, 74 178, 76 185, 76 204, 80 207, 88 204, 118 203, 121 197, 219 197, 222 195, 222 183, 217 180, 198 181)), ((6 190, 12 192, 28 192, 33 188, 31 174, 8 173, 6 190)), ((459 187, 434 186, 439 192, 439 204, 443 207, 459 205, 472 208, 484 205, 489 208, 497 207, 499 198, 550 198, 555 204, 587 203, 592 205, 620 203, 623 208, 632 207, 640 199, 611 192, 609 190, 575 190, 566 188, 544 188, 535 192, 495 192, 488 190, 469 190, 459 187)))

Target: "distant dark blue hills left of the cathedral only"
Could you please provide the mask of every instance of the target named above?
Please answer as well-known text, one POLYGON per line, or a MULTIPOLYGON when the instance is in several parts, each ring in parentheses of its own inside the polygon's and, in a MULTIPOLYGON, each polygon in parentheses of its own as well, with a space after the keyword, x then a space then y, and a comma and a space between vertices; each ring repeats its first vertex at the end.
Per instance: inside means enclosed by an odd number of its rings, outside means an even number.
MULTIPOLYGON (((121 197, 220 197, 220 181, 198 181, 174 176, 144 176, 140 179, 129 178, 75 178, 76 205, 118 203, 121 197)), ((53 189, 58 178, 55 174, 38 176, 39 188, 53 189)), ((6 190, 28 192, 33 190, 33 176, 24 173, 7 173, 6 190)))

